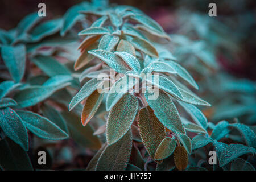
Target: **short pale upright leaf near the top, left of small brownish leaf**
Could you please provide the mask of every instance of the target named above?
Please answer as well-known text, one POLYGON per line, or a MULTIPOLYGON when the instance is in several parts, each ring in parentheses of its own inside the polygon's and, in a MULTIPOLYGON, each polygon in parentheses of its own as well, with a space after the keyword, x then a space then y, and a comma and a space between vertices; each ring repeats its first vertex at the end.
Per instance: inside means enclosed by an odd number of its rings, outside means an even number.
POLYGON ((100 43, 98 44, 98 49, 105 50, 105 51, 113 51, 114 47, 117 46, 119 42, 119 37, 106 34, 102 36, 100 43))

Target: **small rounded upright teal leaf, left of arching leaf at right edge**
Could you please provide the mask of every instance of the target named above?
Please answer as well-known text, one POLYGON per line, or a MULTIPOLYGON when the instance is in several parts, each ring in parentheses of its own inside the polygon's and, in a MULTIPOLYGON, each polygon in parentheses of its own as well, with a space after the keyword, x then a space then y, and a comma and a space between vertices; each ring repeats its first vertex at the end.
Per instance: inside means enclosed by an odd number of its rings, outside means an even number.
POLYGON ((229 123, 227 121, 218 122, 218 124, 214 127, 212 135, 210 135, 210 137, 215 140, 220 140, 221 138, 225 137, 230 132, 228 126, 229 123))

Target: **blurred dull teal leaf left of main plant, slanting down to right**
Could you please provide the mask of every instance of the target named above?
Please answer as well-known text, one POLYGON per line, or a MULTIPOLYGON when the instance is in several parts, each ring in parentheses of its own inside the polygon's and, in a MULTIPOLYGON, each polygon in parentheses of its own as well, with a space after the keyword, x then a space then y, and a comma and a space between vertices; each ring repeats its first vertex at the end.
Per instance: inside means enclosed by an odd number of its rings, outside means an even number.
POLYGON ((56 59, 50 56, 36 56, 31 59, 46 75, 56 76, 56 75, 71 75, 65 65, 59 63, 56 59))

